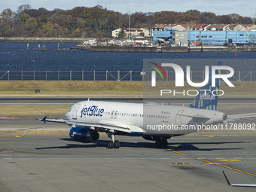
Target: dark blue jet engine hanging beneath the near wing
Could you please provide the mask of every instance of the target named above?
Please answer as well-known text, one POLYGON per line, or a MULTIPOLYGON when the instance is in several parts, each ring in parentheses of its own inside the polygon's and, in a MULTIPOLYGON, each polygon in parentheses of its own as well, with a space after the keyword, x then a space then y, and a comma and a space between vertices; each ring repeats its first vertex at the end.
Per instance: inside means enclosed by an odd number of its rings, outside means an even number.
POLYGON ((99 139, 99 133, 96 130, 79 126, 73 127, 69 131, 69 136, 75 142, 94 142, 99 139))

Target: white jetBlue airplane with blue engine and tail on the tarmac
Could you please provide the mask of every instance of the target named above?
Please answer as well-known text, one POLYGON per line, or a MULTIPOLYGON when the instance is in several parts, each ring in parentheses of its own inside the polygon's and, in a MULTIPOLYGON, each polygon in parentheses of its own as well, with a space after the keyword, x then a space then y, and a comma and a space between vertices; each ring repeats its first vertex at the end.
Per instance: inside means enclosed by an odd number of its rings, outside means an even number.
POLYGON ((188 107, 161 105, 157 103, 124 103, 124 102, 78 102, 69 109, 65 120, 47 119, 42 121, 66 123, 72 127, 69 136, 76 142, 94 142, 99 139, 99 132, 108 133, 108 148, 119 148, 116 135, 142 136, 155 141, 157 147, 166 147, 167 139, 193 133, 203 126, 227 123, 245 117, 256 117, 251 114, 224 114, 216 111, 220 79, 215 87, 209 84, 201 87, 200 92, 188 107), (190 128, 190 129, 187 129, 190 128))

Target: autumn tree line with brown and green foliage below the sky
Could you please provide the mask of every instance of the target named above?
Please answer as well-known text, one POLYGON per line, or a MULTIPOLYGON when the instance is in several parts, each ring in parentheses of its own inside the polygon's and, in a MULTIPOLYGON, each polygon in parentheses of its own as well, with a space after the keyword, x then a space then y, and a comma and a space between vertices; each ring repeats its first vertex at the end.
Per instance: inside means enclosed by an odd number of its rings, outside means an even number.
MULTIPOLYGON (((0 14, 1 37, 66 37, 105 38, 111 31, 128 28, 129 15, 109 11, 101 5, 93 8, 76 7, 72 10, 45 8, 32 9, 20 5, 17 11, 5 9, 0 14)), ((186 12, 160 11, 130 14, 130 27, 148 28, 154 24, 251 24, 250 17, 239 14, 216 15, 211 12, 189 10, 186 12)))

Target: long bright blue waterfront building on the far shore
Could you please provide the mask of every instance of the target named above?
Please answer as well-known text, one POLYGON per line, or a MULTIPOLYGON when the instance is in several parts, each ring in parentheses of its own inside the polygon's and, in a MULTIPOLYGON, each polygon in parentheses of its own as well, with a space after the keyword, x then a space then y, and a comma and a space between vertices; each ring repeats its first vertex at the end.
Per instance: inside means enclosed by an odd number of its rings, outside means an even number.
POLYGON ((256 43, 256 25, 254 24, 197 24, 186 26, 186 28, 183 26, 184 28, 181 30, 175 26, 177 25, 155 25, 149 28, 150 34, 152 32, 153 35, 154 44, 180 46, 188 42, 198 41, 208 45, 256 43), (182 39, 180 32, 183 32, 182 39), (175 36, 178 34, 180 36, 175 36))

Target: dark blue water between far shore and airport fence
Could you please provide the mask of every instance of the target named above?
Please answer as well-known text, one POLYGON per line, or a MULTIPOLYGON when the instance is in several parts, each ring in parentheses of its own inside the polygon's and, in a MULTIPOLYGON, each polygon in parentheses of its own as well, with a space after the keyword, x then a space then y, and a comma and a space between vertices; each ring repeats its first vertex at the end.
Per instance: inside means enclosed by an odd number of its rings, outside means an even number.
MULTIPOLYGON (((69 49, 76 44, 59 44, 69 49)), ((0 42, 0 71, 142 71, 143 59, 256 59, 254 52, 197 52, 197 53, 117 53, 86 50, 55 51, 57 43, 0 42), (36 51, 38 44, 48 51, 36 51)), ((232 66, 235 70, 256 72, 256 65, 232 66)))

